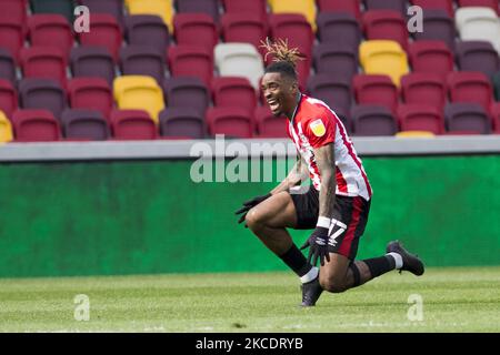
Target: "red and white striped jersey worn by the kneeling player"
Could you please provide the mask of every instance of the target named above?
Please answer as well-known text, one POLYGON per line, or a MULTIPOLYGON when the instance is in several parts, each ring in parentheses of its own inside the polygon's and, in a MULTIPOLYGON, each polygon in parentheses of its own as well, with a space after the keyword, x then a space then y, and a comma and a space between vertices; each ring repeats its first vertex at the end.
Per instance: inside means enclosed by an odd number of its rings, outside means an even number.
POLYGON ((336 193, 344 196, 371 199, 371 186, 361 160, 337 114, 322 101, 301 95, 292 120, 289 120, 288 134, 296 143, 309 168, 309 175, 316 190, 320 190, 319 172, 314 149, 334 144, 336 193))

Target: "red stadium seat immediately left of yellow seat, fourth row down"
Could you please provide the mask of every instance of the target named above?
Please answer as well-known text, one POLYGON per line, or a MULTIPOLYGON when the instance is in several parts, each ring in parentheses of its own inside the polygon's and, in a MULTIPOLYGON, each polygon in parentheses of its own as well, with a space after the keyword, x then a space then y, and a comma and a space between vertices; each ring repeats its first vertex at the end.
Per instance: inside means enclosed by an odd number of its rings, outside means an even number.
POLYGON ((104 79, 74 78, 68 83, 68 95, 72 109, 96 110, 109 119, 113 95, 104 79))

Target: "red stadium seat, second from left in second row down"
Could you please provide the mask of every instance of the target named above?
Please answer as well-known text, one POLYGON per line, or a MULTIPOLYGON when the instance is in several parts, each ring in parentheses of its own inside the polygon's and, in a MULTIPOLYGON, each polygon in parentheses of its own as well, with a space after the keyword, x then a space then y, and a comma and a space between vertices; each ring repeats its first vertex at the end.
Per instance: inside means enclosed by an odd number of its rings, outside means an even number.
POLYGON ((28 36, 32 47, 56 47, 67 58, 74 42, 72 28, 60 14, 30 16, 28 36))

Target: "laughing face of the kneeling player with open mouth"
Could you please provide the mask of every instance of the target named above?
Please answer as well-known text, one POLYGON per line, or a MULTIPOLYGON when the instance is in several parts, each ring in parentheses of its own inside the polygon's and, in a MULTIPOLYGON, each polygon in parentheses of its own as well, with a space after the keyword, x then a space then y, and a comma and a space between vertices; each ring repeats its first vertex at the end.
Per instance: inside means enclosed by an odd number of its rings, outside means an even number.
POLYGON ((273 115, 289 115, 294 109, 297 85, 280 73, 266 73, 262 78, 262 92, 273 115))

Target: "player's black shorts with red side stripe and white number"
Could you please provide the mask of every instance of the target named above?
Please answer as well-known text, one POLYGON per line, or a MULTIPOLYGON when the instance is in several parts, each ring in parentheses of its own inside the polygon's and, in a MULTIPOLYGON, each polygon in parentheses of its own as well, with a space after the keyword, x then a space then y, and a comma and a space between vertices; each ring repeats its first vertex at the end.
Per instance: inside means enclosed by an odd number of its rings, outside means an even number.
MULTIPOLYGON (((313 186, 301 186, 291 190, 290 195, 297 211, 296 230, 312 230, 318 223, 319 192, 313 186)), ((329 245, 330 253, 337 253, 354 260, 358 253, 359 239, 364 232, 370 212, 370 201, 361 196, 349 197, 337 195, 333 217, 347 225, 336 237, 336 245, 329 245)))

